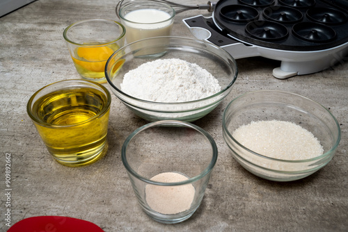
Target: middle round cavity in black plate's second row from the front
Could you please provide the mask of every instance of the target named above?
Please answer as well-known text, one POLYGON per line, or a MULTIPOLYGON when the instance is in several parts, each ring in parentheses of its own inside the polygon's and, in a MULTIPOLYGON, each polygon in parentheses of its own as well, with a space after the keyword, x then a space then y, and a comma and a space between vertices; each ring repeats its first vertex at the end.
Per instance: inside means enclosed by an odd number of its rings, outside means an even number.
POLYGON ((263 16, 266 19, 283 24, 294 24, 303 19, 301 11, 287 6, 269 6, 264 8, 263 16))

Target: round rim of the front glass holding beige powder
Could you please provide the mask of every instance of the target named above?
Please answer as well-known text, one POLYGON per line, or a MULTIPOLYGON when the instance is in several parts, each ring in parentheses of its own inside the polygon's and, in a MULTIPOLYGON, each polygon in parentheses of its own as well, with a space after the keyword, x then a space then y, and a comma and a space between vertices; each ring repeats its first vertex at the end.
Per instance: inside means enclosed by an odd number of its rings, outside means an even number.
POLYGON ((138 129, 136 129, 135 131, 133 131, 125 140, 125 142, 122 145, 122 149, 121 149, 121 157, 122 157, 122 163, 125 166, 125 169, 127 169, 127 172, 129 174, 132 174, 132 176, 135 176, 136 179, 139 179, 145 183, 149 183, 152 185, 162 185, 162 186, 175 186, 175 185, 186 185, 189 183, 193 183, 195 181, 198 181, 199 179, 202 179, 204 176, 206 176, 207 174, 209 174, 209 172, 212 171, 214 165, 216 164, 216 160, 218 157, 218 149, 216 147, 216 143, 214 141, 214 139, 212 138, 211 135, 209 135, 209 133, 207 133, 205 130, 201 129, 199 126, 196 126, 194 124, 191 124, 189 122, 183 122, 183 121, 177 121, 177 120, 162 120, 162 121, 157 121, 157 122, 150 122, 149 124, 145 124, 144 126, 139 127, 138 129), (205 167, 205 169, 203 169, 202 172, 200 172, 200 174, 193 176, 185 181, 180 181, 180 182, 170 182, 170 183, 166 183, 166 182, 159 182, 159 181, 151 181, 148 178, 145 178, 144 176, 141 176, 140 174, 138 174, 136 171, 134 171, 134 169, 132 169, 132 167, 130 167, 129 163, 127 162, 127 147, 129 142, 132 141, 132 139, 134 138, 134 136, 136 136, 138 133, 140 133, 141 131, 145 131, 146 129, 149 129, 153 126, 161 126, 161 125, 169 125, 169 126, 175 126, 175 125, 179 125, 179 126, 184 126, 187 128, 191 128, 197 132, 199 132, 201 135, 203 135, 205 138, 207 138, 207 140, 209 141, 209 143, 212 146, 212 159, 210 160, 209 165, 207 165, 207 167, 205 167))

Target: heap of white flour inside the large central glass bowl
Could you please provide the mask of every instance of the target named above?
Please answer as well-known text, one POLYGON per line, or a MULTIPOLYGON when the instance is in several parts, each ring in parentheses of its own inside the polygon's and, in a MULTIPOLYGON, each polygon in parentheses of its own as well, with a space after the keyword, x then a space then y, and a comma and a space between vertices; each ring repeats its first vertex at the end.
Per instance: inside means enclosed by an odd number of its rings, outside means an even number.
POLYGON ((121 90, 146 101, 173 103, 209 97, 221 91, 221 86, 206 69, 171 58, 150 61, 130 70, 123 78, 121 90))

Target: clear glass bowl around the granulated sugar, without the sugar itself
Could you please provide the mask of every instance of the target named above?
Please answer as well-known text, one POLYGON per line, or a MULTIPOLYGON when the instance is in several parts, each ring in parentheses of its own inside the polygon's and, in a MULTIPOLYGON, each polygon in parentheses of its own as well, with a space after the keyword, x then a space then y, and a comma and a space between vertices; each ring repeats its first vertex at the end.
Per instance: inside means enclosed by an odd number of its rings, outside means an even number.
POLYGON ((249 172, 271 181, 294 181, 317 172, 333 158, 340 137, 340 126, 329 110, 290 92, 248 92, 232 100, 223 113, 223 138, 232 156, 249 172), (244 147, 232 136, 239 126, 270 120, 294 122, 310 131, 321 143, 324 153, 303 160, 269 158, 244 147))

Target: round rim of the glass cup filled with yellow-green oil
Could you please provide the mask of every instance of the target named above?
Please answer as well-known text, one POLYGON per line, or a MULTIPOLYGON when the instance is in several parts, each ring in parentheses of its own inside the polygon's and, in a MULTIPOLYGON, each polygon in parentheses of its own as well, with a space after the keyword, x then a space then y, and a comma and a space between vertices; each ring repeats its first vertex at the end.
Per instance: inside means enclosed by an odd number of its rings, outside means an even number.
MULTIPOLYGON (((69 88, 69 86, 65 86, 64 88, 69 88)), ((40 126, 46 126, 46 127, 51 127, 51 128, 66 128, 66 127, 72 127, 72 126, 80 126, 82 124, 86 124, 90 121, 92 121, 93 119, 97 118, 97 117, 102 117, 110 108, 111 106, 111 94, 109 92, 109 90, 107 90, 103 85, 101 85, 100 83, 97 83, 95 81, 88 81, 88 80, 81 80, 81 79, 68 79, 68 80, 63 80, 63 81, 56 81, 54 83, 50 83, 49 85, 45 85, 44 87, 40 88, 39 90, 37 90, 36 92, 34 92, 34 94, 29 98, 28 103, 26 104, 26 112, 28 113, 29 117, 33 120, 33 122, 40 124, 40 126), (42 120, 38 119, 38 117, 35 117, 33 115, 32 112, 32 104, 33 104, 33 99, 42 91, 45 90, 46 88, 52 87, 53 85, 56 85, 58 83, 69 83, 69 82, 81 82, 81 83, 89 83, 92 85, 95 85, 97 88, 100 88, 104 91, 107 102, 106 105, 102 108, 102 110, 97 113, 97 115, 90 117, 89 119, 76 123, 76 124, 69 124, 69 125, 55 125, 55 124, 49 124, 47 122, 43 122, 42 120)))

